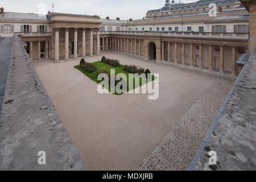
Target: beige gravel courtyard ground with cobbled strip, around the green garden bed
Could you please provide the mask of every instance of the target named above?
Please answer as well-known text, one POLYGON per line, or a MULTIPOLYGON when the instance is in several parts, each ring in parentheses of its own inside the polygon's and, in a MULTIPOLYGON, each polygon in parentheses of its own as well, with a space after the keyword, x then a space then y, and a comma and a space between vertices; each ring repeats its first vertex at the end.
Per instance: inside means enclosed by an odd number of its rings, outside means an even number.
POLYGON ((158 100, 148 100, 148 94, 99 94, 96 82, 73 68, 79 60, 34 61, 86 168, 186 169, 232 81, 118 53, 104 55, 159 73, 158 100))

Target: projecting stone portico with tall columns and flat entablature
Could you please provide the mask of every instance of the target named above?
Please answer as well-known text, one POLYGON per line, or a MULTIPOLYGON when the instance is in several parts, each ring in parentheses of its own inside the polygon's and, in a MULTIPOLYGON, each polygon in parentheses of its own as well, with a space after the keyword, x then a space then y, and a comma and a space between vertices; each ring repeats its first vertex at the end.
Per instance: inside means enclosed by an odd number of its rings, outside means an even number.
POLYGON ((51 59, 77 59, 100 53, 100 17, 73 14, 48 14, 52 28, 51 59), (96 45, 93 52, 93 32, 96 45))

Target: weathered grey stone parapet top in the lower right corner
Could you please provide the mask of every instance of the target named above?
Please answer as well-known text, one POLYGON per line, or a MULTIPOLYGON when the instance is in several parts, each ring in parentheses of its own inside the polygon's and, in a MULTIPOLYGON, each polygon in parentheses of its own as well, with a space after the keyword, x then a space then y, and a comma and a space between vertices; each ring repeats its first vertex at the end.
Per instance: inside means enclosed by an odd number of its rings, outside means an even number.
POLYGON ((242 69, 225 103, 220 119, 197 153, 197 164, 190 169, 256 170, 256 52, 242 69), (216 151, 217 165, 209 165, 209 151, 216 151))

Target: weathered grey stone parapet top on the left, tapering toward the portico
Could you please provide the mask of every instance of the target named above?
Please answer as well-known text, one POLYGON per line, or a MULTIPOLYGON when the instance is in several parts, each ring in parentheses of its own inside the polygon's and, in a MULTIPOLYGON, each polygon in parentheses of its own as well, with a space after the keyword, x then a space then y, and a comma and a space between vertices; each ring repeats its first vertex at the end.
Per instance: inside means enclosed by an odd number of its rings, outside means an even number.
POLYGON ((18 36, 0 123, 0 170, 85 169, 18 36), (46 152, 46 165, 38 164, 39 151, 46 152))

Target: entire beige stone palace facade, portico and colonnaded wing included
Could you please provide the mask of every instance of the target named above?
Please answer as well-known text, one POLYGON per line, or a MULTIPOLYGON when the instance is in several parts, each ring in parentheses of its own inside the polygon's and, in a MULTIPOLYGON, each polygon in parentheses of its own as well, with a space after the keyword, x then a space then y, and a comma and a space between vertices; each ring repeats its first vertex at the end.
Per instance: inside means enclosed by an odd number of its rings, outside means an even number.
MULTIPOLYGON (((191 26, 189 23, 197 23, 200 27, 200 23, 207 23, 205 27, 221 27, 222 31, 214 32, 129 31, 131 22, 125 23, 122 20, 104 20, 102 23, 99 16, 51 12, 48 12, 46 16, 39 16, 5 13, 3 9, 1 9, 0 24, 1 32, 5 32, 6 30, 2 31, 2 28, 5 29, 9 23, 11 24, 10 32, 21 36, 31 59, 59 61, 98 55, 101 51, 117 51, 145 60, 155 60, 156 63, 170 64, 221 76, 236 76, 236 60, 248 49, 247 24, 249 18, 243 15, 243 11, 227 11, 220 14, 218 19, 212 20, 205 14, 183 18, 183 23, 187 23, 186 26, 191 26), (229 13, 231 15, 227 16, 229 13), (238 15, 234 15, 236 13, 238 15), (121 29, 111 30, 112 28, 109 26, 112 22, 115 28, 119 24, 121 29), (229 29, 227 24, 232 29, 229 29), (108 26, 107 29, 105 27, 104 30, 102 28, 104 26, 108 26), (242 29, 240 28, 242 31, 238 31, 238 26, 242 27, 242 29), (233 30, 233 27, 237 30, 233 30)), ((134 28, 145 27, 146 24, 162 26, 169 20, 176 26, 175 24, 180 22, 180 16, 136 20, 134 28)))

